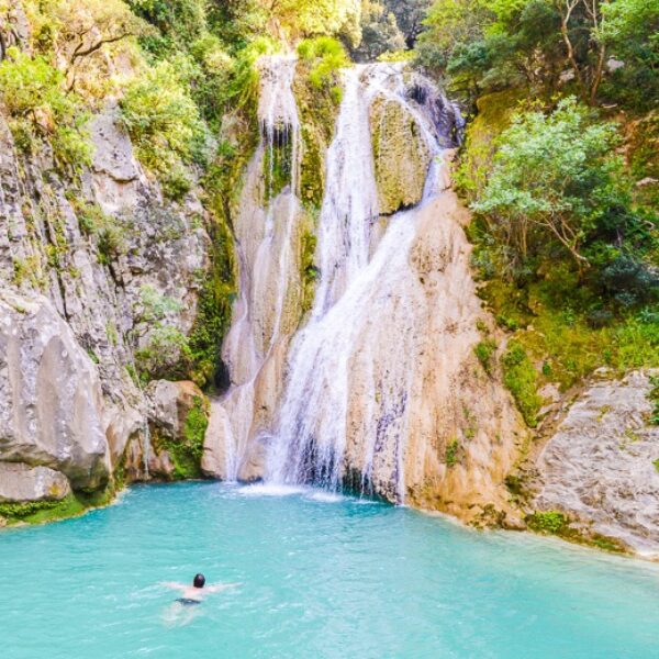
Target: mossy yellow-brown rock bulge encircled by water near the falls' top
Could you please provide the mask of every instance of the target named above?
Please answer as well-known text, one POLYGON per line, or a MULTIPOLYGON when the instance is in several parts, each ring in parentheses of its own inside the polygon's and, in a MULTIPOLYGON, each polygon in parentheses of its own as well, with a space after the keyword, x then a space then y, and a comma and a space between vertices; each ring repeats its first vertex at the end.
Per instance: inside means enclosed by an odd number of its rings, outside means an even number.
POLYGON ((370 108, 380 213, 389 215, 423 197, 431 152, 405 105, 378 97, 370 108))

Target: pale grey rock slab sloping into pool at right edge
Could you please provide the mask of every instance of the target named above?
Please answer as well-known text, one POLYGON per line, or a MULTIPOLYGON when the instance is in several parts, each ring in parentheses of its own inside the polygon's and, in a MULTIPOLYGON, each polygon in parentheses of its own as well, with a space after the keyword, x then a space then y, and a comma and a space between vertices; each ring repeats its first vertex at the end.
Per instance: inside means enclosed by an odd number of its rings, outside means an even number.
POLYGON ((557 509, 659 556, 659 427, 649 424, 649 373, 594 382, 572 404, 539 454, 535 505, 557 509))

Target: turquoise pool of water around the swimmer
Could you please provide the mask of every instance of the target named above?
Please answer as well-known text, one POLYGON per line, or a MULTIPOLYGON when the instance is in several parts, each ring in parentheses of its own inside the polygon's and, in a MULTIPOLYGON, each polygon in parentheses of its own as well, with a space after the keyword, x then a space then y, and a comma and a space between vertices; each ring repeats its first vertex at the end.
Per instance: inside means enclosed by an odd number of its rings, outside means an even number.
POLYGON ((658 656, 658 566, 303 488, 133 488, 0 566, 7 659, 658 656), (242 585, 172 608, 197 571, 242 585))

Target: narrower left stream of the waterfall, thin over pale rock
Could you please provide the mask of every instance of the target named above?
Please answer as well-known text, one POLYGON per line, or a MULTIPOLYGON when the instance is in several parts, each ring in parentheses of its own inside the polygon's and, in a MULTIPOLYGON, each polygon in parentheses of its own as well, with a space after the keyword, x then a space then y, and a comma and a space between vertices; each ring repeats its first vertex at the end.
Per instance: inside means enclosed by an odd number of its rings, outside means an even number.
POLYGON ((224 463, 215 467, 232 481, 238 477, 252 435, 255 382, 286 334, 282 324, 295 267, 291 241, 300 206, 300 120, 292 92, 295 64, 292 57, 275 56, 259 62, 260 143, 248 166, 235 220, 241 295, 223 346, 232 387, 221 402, 224 463), (278 190, 282 176, 287 181, 278 190))

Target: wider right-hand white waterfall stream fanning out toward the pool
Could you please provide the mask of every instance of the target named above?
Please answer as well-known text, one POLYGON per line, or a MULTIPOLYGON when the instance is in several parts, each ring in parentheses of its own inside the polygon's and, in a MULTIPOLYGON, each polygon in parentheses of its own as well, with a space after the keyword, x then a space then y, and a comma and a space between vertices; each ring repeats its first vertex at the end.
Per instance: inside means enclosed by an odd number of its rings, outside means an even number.
POLYGON ((291 348, 265 478, 330 489, 346 482, 362 491, 377 485, 402 501, 406 409, 421 339, 410 319, 424 300, 407 264, 417 225, 414 211, 389 220, 370 257, 379 221, 369 119, 376 98, 401 105, 423 135, 432 155, 424 200, 443 189, 437 124, 409 98, 402 67, 347 70, 326 158, 316 253, 321 279, 311 319, 291 348), (351 418, 355 396, 360 420, 351 418), (357 433, 348 428, 355 423, 357 433), (355 438, 350 447, 348 435, 355 438))

